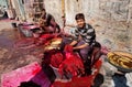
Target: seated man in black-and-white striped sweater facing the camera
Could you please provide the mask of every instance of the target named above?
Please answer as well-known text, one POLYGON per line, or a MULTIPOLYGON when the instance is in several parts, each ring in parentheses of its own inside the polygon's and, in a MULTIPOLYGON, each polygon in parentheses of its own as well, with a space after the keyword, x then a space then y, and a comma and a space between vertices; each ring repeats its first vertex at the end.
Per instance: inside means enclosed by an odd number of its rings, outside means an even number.
POLYGON ((88 55, 92 45, 96 42, 95 29, 92 29, 91 25, 86 23, 84 13, 76 14, 75 20, 77 22, 77 26, 75 30, 75 39, 70 43, 70 45, 74 46, 74 50, 79 51, 79 54, 86 66, 86 72, 87 74, 90 74, 91 59, 88 58, 88 55))

